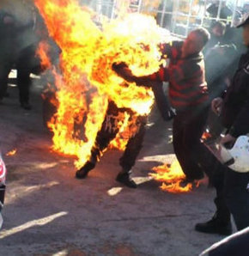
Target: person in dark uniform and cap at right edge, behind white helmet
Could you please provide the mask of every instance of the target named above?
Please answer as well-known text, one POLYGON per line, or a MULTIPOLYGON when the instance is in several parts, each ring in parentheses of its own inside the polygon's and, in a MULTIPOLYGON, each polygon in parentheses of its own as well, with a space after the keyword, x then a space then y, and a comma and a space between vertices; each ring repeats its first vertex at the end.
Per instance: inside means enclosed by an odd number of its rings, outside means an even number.
MULTIPOLYGON (((249 49, 249 15, 238 27, 243 27, 244 43, 249 49)), ((226 136, 222 137, 222 144, 233 144, 237 137, 249 133, 249 50, 241 56, 224 99, 214 99, 212 108, 220 114, 222 125, 228 129, 226 136)), ((237 229, 249 226, 249 167, 247 173, 237 173, 222 166, 219 173, 223 179, 215 200, 216 214, 209 222, 197 223, 197 231, 221 234, 222 230, 231 230, 230 212, 237 229)))

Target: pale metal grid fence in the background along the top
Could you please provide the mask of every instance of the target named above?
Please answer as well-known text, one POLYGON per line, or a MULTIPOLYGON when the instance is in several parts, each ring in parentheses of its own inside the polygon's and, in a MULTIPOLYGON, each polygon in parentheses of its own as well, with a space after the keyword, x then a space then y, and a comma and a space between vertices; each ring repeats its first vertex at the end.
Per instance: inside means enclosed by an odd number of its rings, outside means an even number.
POLYGON ((154 15, 161 27, 178 36, 186 36, 195 27, 210 27, 210 23, 217 20, 234 26, 240 19, 243 6, 247 4, 247 8, 249 7, 248 0, 82 0, 82 2, 88 2, 97 13, 106 15, 110 19, 114 19, 120 6, 126 4, 129 12, 154 15))

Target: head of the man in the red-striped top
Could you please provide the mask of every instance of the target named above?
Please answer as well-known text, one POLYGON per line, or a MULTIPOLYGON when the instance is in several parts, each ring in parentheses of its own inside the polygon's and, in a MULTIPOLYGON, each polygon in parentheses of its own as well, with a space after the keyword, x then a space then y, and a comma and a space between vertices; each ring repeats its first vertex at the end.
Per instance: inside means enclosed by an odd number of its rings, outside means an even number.
POLYGON ((199 27, 191 31, 182 46, 182 57, 185 58, 191 54, 201 52, 208 40, 210 40, 210 33, 207 29, 199 27))

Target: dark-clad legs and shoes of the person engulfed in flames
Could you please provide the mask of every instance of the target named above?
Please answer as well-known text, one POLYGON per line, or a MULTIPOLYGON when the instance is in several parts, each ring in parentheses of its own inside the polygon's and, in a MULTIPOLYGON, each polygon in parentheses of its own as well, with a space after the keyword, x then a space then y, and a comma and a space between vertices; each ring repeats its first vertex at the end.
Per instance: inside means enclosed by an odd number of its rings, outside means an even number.
POLYGON ((125 152, 119 159, 119 164, 122 168, 116 180, 123 183, 125 186, 136 188, 137 184, 131 179, 131 168, 136 162, 137 155, 142 148, 143 137, 145 133, 146 116, 137 116, 134 122, 132 116, 135 114, 129 108, 118 108, 113 101, 109 101, 100 131, 97 133, 94 147, 91 150, 91 157, 82 168, 76 171, 77 179, 85 179, 88 173, 94 169, 103 151, 107 149, 112 139, 118 134, 118 122, 124 119, 124 113, 130 113, 130 130, 135 130, 125 146, 125 152), (133 127, 132 127, 133 124, 133 127), (136 127, 134 127, 134 124, 136 127), (135 128, 135 129, 134 129, 135 128))

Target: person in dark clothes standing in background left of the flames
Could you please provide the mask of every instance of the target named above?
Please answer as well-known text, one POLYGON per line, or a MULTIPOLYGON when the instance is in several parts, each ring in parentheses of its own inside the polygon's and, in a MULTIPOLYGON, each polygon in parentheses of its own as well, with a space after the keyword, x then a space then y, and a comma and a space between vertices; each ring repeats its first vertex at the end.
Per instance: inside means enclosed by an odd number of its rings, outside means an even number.
POLYGON ((36 54, 40 41, 39 35, 36 34, 39 14, 35 9, 28 9, 27 12, 30 17, 22 23, 20 17, 0 9, 0 101, 3 101, 7 94, 9 72, 15 68, 21 107, 30 110, 30 74, 39 73, 38 70, 41 69, 36 54))

